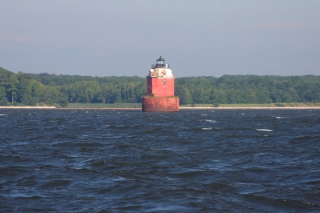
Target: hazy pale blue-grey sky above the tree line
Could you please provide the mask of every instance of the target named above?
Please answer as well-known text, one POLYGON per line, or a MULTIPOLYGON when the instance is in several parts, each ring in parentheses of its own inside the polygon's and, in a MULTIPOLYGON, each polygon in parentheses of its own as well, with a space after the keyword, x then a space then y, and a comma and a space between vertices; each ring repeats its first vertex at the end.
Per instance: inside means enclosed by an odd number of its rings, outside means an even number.
POLYGON ((0 67, 87 76, 320 75, 320 0, 2 0, 0 67))

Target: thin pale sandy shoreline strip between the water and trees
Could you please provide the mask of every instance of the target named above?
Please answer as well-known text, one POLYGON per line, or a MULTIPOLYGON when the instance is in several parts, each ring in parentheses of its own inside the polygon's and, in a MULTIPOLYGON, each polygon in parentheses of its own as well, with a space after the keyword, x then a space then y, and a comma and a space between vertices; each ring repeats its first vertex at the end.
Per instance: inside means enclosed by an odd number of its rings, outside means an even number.
MULTIPOLYGON (((57 108, 55 106, 0 106, 0 109, 55 109, 55 110, 142 110, 142 108, 57 108)), ((250 109, 320 109, 320 106, 303 107, 180 107, 180 110, 250 110, 250 109)))

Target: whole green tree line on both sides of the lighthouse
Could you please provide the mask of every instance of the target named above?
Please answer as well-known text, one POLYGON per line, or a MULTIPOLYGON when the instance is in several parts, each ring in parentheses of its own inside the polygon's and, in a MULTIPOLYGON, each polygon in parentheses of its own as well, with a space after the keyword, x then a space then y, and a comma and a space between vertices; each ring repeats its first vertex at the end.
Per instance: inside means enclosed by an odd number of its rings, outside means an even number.
MULTIPOLYGON (((141 77, 13 73, 0 68, 0 105, 140 103, 141 77)), ((225 75, 175 79, 180 104, 320 102, 320 76, 225 75)))

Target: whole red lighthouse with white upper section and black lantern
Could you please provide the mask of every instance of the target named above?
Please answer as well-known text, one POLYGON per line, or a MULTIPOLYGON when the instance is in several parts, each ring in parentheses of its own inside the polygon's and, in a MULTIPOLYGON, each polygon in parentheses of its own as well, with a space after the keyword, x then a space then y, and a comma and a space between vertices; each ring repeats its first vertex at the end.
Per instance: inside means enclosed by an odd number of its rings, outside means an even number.
POLYGON ((174 75, 160 56, 147 76, 147 95, 142 98, 143 112, 177 112, 179 97, 174 96, 174 75))

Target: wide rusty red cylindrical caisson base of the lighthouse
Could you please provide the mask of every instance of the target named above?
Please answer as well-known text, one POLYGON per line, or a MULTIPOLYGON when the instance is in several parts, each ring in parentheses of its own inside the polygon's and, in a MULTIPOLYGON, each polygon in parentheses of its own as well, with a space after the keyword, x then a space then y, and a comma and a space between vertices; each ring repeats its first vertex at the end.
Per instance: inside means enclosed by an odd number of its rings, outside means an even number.
POLYGON ((144 97, 142 112, 178 112, 178 97, 144 97))

